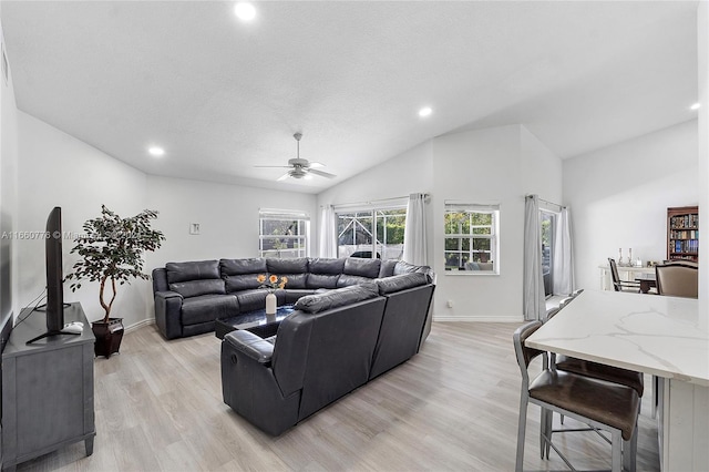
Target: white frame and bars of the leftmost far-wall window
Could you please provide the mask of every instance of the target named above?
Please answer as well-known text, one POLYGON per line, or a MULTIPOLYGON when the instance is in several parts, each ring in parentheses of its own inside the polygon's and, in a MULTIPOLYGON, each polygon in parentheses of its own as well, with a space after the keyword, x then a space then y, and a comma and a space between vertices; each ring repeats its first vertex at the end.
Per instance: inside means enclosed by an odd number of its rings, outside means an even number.
POLYGON ((295 259, 310 256, 310 216, 307 212, 289 209, 259 208, 258 211, 258 256, 278 259, 295 259), (300 234, 278 235, 264 234, 264 222, 294 222, 300 234), (276 249, 265 249, 264 243, 270 239, 285 240, 286 247, 276 249), (288 242, 292 246, 288 247, 288 242), (298 243, 300 242, 300 243, 298 243), (276 254, 274 254, 274 252, 276 254), (281 252, 292 253, 292 256, 284 257, 281 252))

